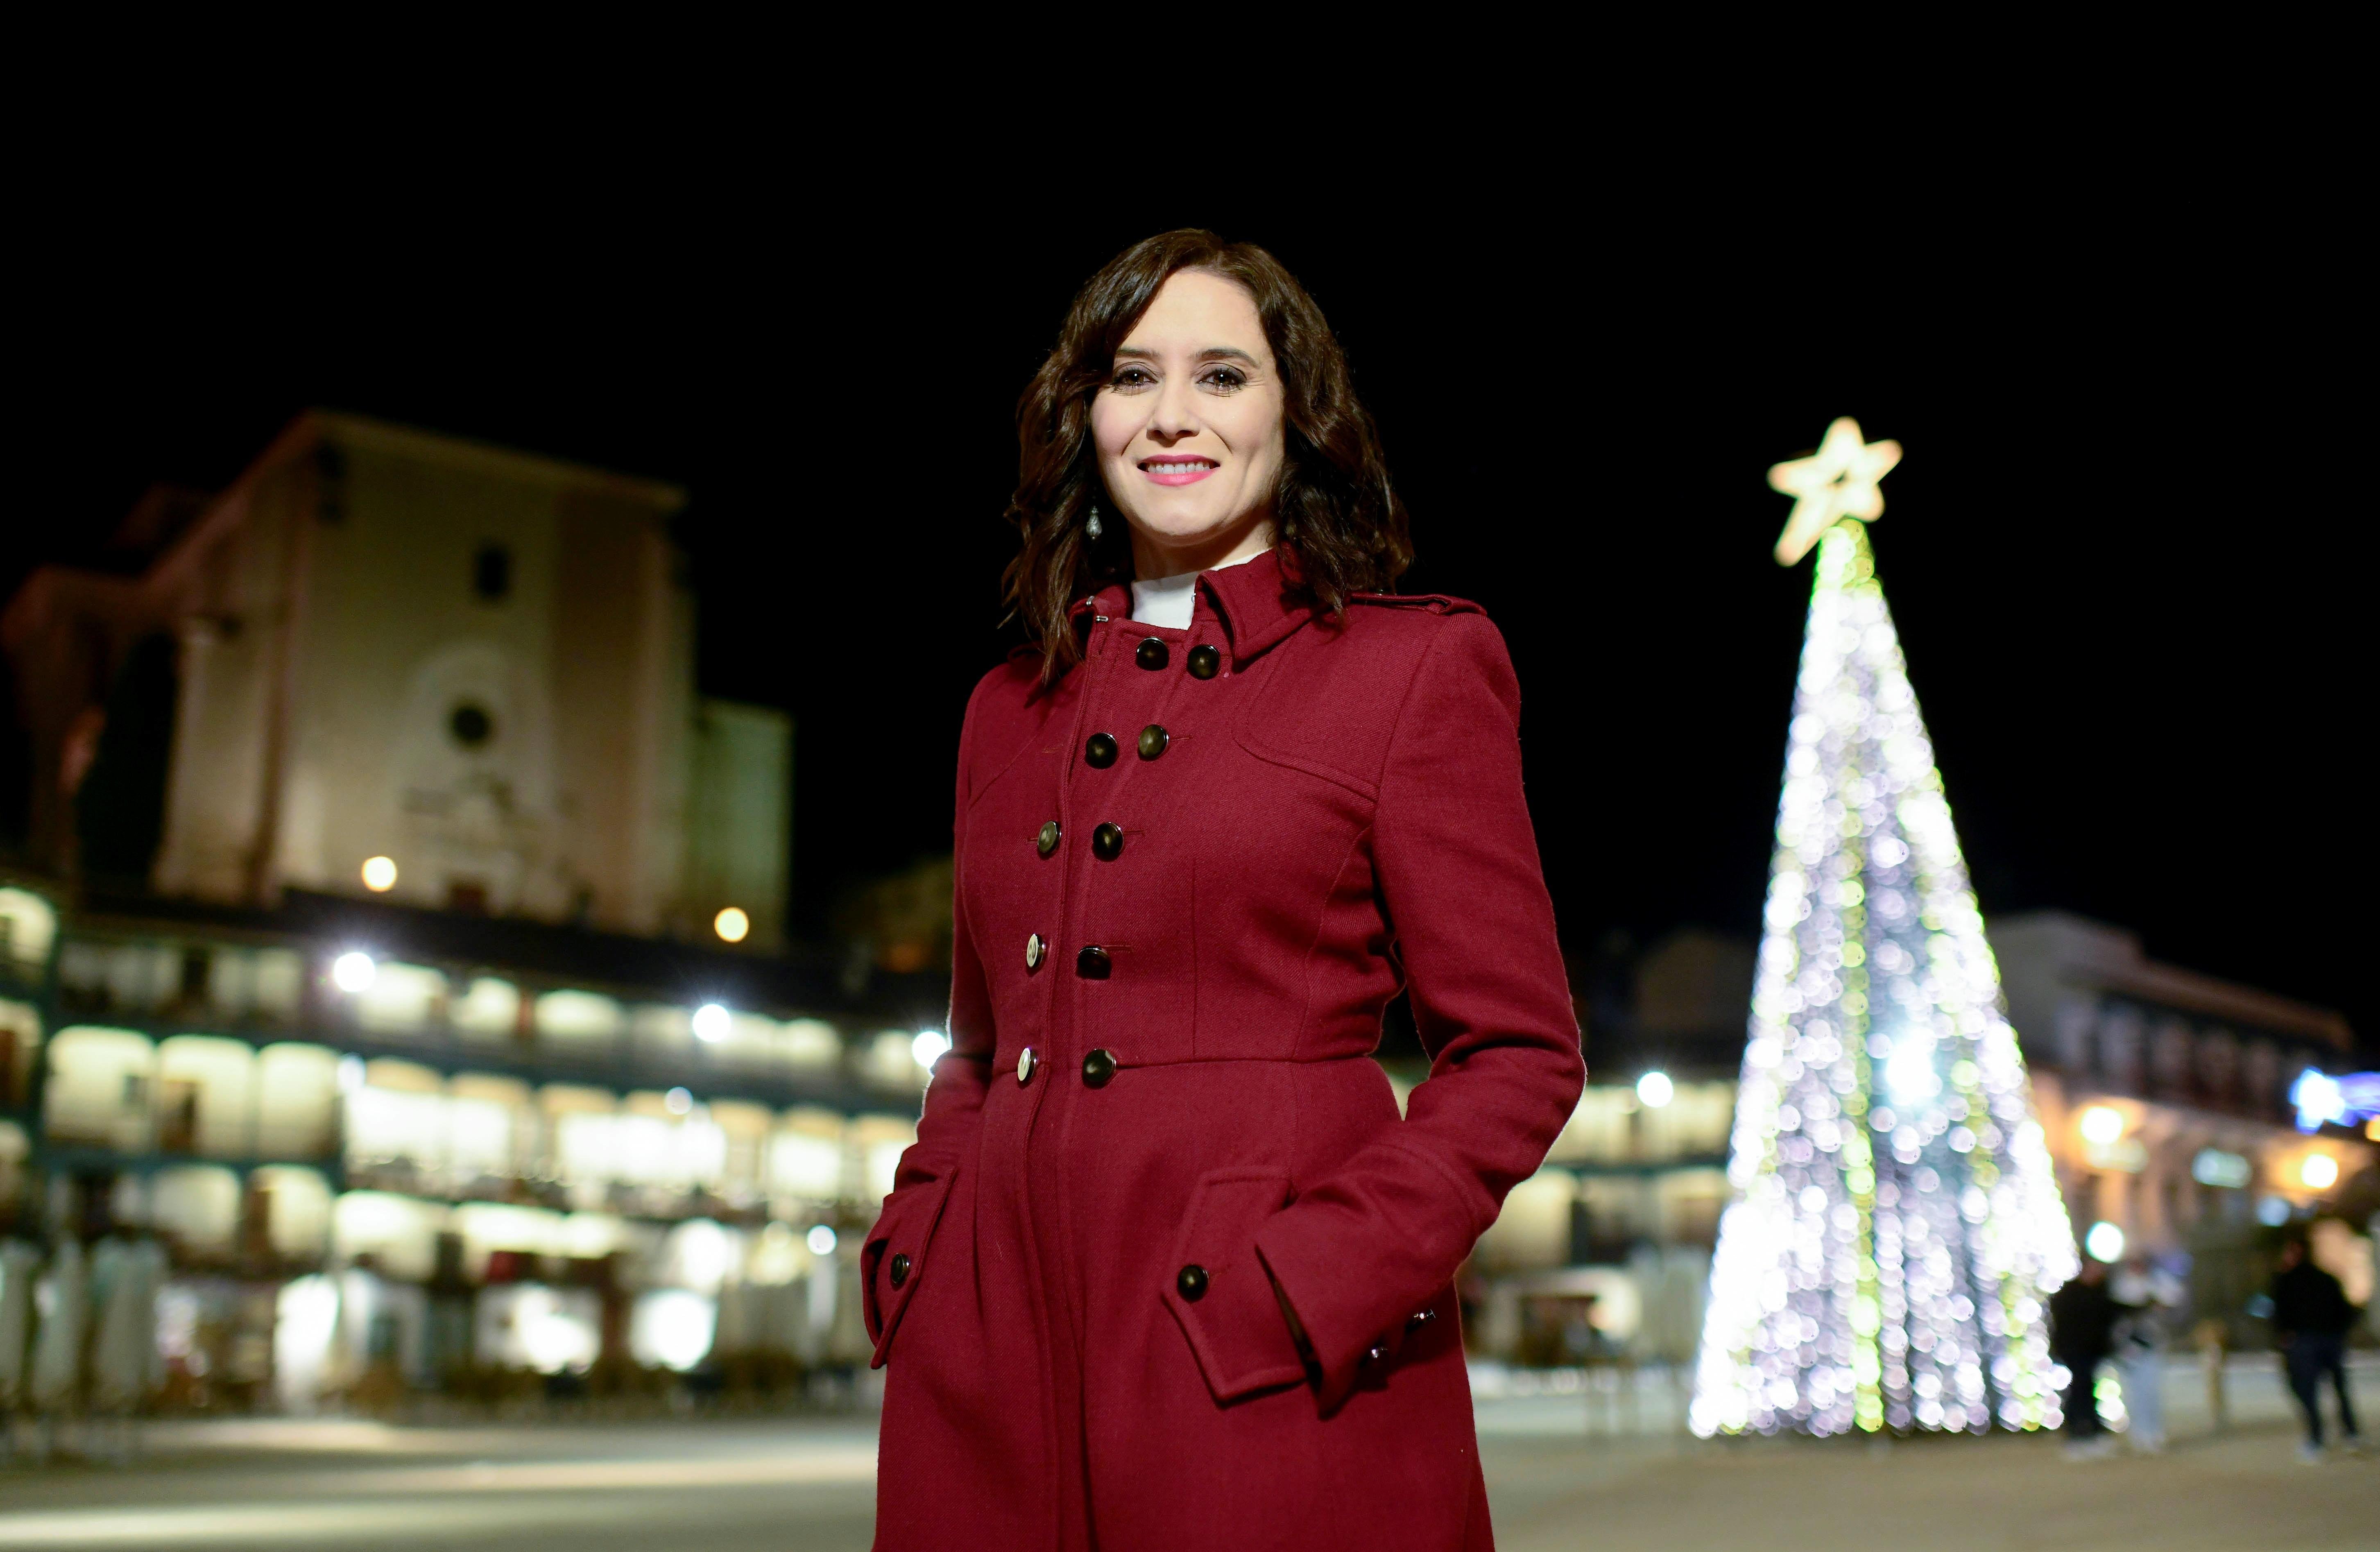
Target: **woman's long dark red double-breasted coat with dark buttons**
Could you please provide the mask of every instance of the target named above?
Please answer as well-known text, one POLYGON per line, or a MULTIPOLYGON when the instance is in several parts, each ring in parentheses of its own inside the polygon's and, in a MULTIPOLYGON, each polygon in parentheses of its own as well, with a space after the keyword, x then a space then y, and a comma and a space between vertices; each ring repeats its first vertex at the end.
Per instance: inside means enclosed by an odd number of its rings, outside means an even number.
POLYGON ((1452 1278, 1585 1081, 1504 638, 1316 619, 1273 555, 1188 631, 1078 614, 959 738, 954 1047, 862 1250, 876 1545, 1488 1547, 1452 1278))

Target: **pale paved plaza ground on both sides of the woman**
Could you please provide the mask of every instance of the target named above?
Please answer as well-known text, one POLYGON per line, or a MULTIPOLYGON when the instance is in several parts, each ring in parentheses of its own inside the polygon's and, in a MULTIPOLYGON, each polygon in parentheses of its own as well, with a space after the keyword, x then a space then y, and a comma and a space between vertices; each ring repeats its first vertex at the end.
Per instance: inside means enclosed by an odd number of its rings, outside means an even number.
MULTIPOLYGON (((1480 1452, 1507 1552, 1897 1545, 1966 1550, 2380 1547, 2380 1454, 2297 1464, 2271 1359, 2168 1378, 2173 1445, 2071 1464, 2049 1438, 1735 1440, 1676 1428, 1676 1390, 1483 1376, 1480 1452), (1518 1393, 1516 1393, 1518 1390, 1518 1393)), ((2380 1364, 2359 1366, 2380 1412, 2380 1364)), ((95 1440, 100 1450, 109 1440, 95 1440)), ((659 1552, 869 1545, 871 1419, 393 1428, 157 1423, 133 1464, 0 1464, 0 1547, 659 1552)))

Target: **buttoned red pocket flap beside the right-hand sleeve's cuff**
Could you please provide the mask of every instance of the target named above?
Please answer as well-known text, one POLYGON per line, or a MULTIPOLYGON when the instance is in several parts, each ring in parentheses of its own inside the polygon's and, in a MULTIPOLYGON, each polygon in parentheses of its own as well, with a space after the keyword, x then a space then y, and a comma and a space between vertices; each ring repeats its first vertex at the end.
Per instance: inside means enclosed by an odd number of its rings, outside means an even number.
POLYGON ((1288 1202, 1290 1176, 1278 1169, 1216 1169, 1190 1190, 1161 1297, 1216 1402, 1307 1378, 1257 1259, 1257 1228, 1288 1202))

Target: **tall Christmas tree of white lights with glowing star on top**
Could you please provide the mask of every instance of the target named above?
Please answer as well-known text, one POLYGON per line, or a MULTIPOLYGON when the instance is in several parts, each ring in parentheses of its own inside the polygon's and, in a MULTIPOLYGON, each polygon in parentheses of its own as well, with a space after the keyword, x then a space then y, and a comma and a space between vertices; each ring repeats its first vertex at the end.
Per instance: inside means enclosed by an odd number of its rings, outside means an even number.
POLYGON ((1768 478, 1816 545, 1697 1435, 2061 1421, 2073 1231, 1999 1000, 1866 521, 1894 443, 1828 426, 1768 478))

